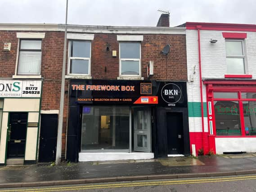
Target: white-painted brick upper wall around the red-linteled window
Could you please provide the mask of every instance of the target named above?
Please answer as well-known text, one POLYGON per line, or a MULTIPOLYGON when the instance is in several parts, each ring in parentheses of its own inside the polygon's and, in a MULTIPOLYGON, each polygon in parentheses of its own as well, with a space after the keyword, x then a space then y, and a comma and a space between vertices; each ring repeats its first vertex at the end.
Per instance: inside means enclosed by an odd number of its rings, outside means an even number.
MULTIPOLYGON (((246 31, 200 31, 200 46, 201 46, 201 63, 202 63, 202 78, 224 78, 227 74, 226 67, 226 48, 225 38, 222 32, 245 32, 247 38, 244 40, 245 51, 247 55, 248 74, 256 79, 256 32, 246 31), (215 44, 211 44, 210 39, 218 40, 215 44)), ((198 31, 187 30, 187 64, 188 77, 193 73, 193 66, 198 68, 198 31)), ((197 72, 199 72, 197 70, 197 72)), ((197 79, 193 84, 198 84, 199 73, 196 72, 197 79)))

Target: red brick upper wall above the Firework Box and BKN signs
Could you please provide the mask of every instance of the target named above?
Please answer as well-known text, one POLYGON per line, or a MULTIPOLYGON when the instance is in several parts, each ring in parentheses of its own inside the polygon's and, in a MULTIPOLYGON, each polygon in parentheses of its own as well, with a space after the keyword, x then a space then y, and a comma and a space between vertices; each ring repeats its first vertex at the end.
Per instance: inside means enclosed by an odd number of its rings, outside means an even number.
MULTIPOLYGON (((119 43, 115 34, 94 34, 91 52, 91 75, 93 79, 117 79, 119 76, 119 43), (107 51, 107 45, 109 51, 107 51), (112 57, 117 50, 117 57, 112 57), (106 72, 105 72, 106 67, 106 72)), ((148 62, 154 61, 155 80, 187 80, 187 55, 185 35, 144 35, 141 42, 141 72, 147 77, 148 62), (170 44, 170 53, 161 54, 170 44)))

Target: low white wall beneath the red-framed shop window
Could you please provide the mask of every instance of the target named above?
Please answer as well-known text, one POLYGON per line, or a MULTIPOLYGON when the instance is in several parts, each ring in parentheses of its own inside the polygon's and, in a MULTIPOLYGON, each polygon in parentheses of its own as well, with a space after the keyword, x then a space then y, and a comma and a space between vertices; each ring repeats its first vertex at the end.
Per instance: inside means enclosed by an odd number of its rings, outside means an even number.
POLYGON ((216 154, 223 152, 256 152, 256 138, 215 138, 216 154))

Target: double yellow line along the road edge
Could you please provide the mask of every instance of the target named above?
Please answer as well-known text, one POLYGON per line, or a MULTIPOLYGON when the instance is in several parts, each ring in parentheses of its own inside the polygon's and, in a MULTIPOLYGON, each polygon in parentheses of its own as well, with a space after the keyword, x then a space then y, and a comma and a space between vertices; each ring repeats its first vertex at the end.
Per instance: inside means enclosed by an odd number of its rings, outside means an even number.
POLYGON ((152 185, 177 185, 177 184, 195 184, 195 183, 216 183, 228 181, 241 181, 256 179, 256 176, 244 177, 228 177, 216 179, 189 179, 189 180, 172 180, 172 181, 156 181, 156 182, 139 182, 139 183, 113 183, 113 184, 98 184, 98 185, 82 185, 73 187, 59 187, 59 188, 34 188, 34 189, 12 189, 0 190, 0 192, 57 192, 57 191, 75 191, 86 189, 102 189, 102 188, 124 188, 124 187, 137 187, 137 186, 152 186, 152 185))

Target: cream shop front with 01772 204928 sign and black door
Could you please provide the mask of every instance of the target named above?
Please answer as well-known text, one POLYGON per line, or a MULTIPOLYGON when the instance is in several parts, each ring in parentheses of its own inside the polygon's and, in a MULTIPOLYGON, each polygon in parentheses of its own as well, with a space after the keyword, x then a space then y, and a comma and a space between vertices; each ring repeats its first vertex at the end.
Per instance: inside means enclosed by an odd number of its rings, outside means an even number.
POLYGON ((40 80, 0 80, 0 165, 37 159, 40 80))

